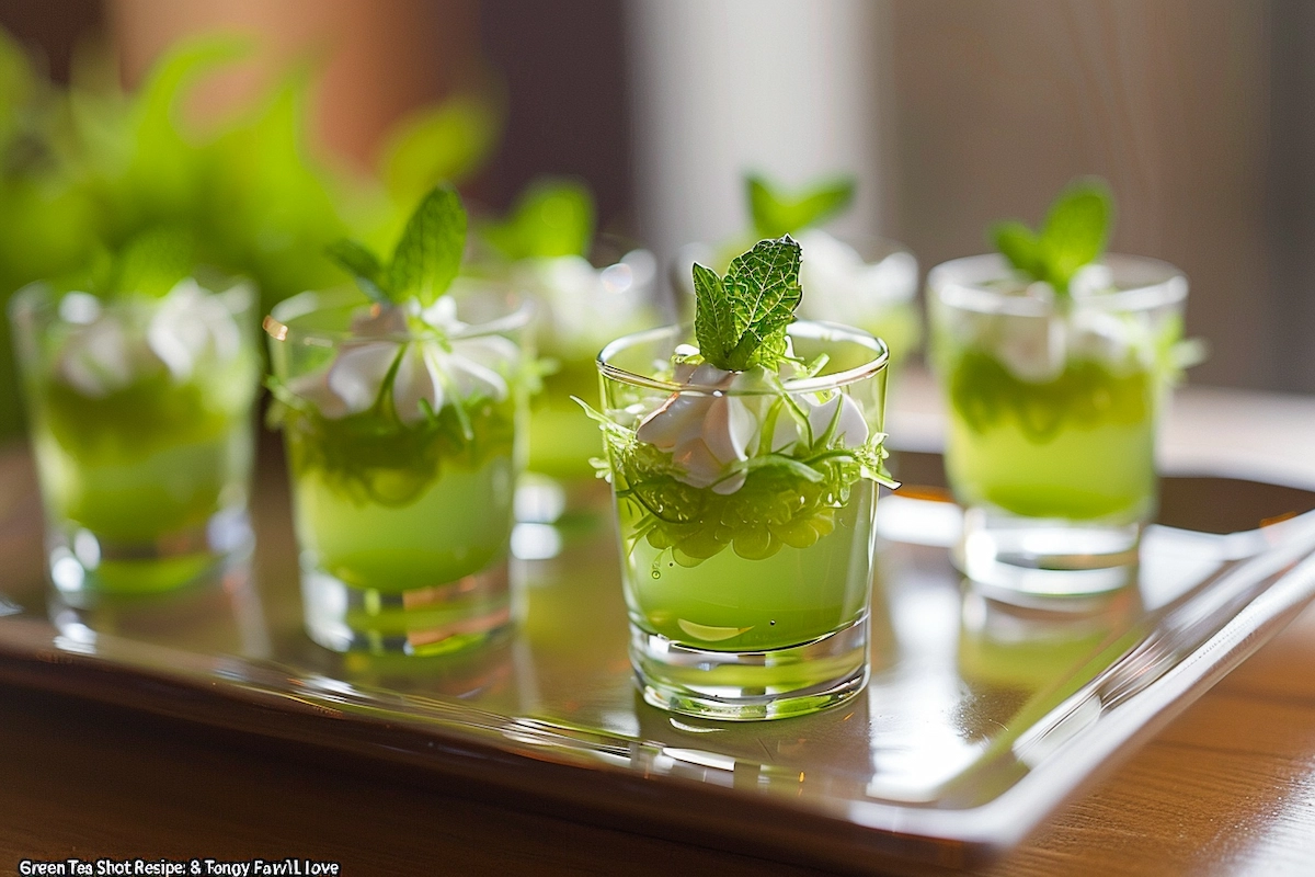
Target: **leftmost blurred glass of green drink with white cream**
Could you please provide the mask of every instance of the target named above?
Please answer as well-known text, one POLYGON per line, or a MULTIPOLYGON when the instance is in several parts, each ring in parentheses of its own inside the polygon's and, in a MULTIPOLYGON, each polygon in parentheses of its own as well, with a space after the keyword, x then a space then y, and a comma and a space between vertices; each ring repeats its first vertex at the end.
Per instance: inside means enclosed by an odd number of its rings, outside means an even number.
POLYGON ((255 289, 189 279, 101 300, 33 284, 11 304, 46 510, 72 605, 209 579, 252 544, 255 289))

